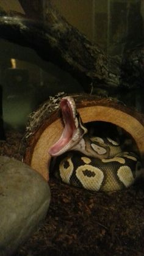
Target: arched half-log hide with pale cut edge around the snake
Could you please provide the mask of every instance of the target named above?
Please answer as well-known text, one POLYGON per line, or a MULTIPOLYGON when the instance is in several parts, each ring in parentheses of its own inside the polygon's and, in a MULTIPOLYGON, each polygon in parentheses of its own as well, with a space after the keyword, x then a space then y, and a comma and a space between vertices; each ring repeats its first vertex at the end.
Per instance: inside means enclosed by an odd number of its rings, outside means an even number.
MULTIPOLYGON (((90 95, 75 95, 73 97, 84 123, 102 121, 120 126, 134 139, 143 161, 144 119, 142 114, 109 99, 90 95)), ((51 161, 48 149, 62 134, 63 123, 59 109, 48 114, 45 108, 41 106, 39 109, 41 112, 40 122, 37 122, 37 126, 32 127, 31 125, 29 134, 25 137, 23 155, 24 162, 38 170, 48 180, 51 161)))

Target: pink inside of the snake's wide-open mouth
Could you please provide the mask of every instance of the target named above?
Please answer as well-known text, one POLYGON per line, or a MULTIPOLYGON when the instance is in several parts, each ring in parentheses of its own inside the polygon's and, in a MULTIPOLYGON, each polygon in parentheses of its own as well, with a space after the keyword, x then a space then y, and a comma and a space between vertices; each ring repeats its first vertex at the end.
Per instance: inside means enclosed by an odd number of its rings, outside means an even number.
POLYGON ((73 111, 67 99, 61 100, 60 108, 62 109, 65 128, 59 141, 57 141, 56 144, 49 148, 49 154, 52 156, 57 155, 60 150, 62 150, 62 148, 65 147, 68 142, 70 142, 71 138, 73 137, 74 130, 76 129, 73 119, 73 111))

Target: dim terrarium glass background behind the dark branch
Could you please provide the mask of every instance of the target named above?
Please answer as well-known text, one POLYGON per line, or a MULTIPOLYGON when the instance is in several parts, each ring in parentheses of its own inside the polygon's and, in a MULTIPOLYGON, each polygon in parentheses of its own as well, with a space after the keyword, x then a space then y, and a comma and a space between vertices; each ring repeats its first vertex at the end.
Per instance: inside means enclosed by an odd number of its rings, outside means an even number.
MULTIPOLYGON (((33 20, 39 23, 37 26, 42 27, 42 24, 48 22, 48 4, 49 1, 46 0, 13 0, 9 4, 7 1, 2 1, 1 17, 11 15, 15 18, 19 15, 21 19, 27 18, 27 26, 32 26, 33 20)), ((124 56, 128 50, 137 49, 137 46, 143 43, 143 1, 52 0, 51 4, 68 23, 76 27, 90 42, 98 44, 106 55, 108 54, 107 66, 110 65, 109 56, 115 59, 126 59, 124 56)), ((38 53, 35 43, 32 45, 30 41, 23 42, 20 35, 12 32, 13 29, 10 32, 10 27, 7 29, 4 24, 2 27, 2 23, 1 29, 3 32, 0 39, 0 84, 2 87, 2 119, 5 128, 9 126, 24 128, 28 115, 40 103, 48 99, 49 95, 55 95, 58 92, 85 92, 82 82, 73 76, 71 70, 68 72, 68 67, 65 67, 67 63, 63 67, 60 65, 59 56, 57 62, 54 59, 52 63, 52 58, 49 61, 49 56, 45 56, 45 53, 43 56, 38 53)), ((45 38, 43 42, 40 42, 41 39, 38 36, 37 40, 38 47, 43 48, 45 38)), ((43 51, 45 52, 45 49, 43 51)), ((140 54, 143 61, 143 53, 139 51, 132 57, 133 62, 128 62, 128 65, 135 65, 135 73, 142 72, 139 67, 137 68, 140 54)), ((143 75, 140 74, 140 76, 142 78, 143 75)), ((121 87, 107 88, 104 85, 101 86, 101 82, 94 87, 93 82, 91 84, 88 81, 86 91, 91 92, 92 87, 93 94, 116 97, 139 111, 143 111, 142 83, 142 79, 140 81, 135 79, 134 86, 125 90, 121 87)))

